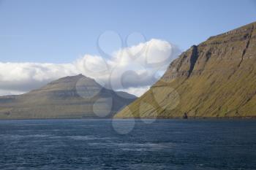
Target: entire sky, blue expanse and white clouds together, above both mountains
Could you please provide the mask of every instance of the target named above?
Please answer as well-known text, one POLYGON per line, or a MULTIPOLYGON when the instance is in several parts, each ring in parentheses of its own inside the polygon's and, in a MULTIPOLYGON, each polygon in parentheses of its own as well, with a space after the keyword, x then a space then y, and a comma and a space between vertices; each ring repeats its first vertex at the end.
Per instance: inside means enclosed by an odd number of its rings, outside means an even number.
POLYGON ((82 73, 140 96, 182 51, 254 21, 253 0, 0 0, 0 95, 82 73))

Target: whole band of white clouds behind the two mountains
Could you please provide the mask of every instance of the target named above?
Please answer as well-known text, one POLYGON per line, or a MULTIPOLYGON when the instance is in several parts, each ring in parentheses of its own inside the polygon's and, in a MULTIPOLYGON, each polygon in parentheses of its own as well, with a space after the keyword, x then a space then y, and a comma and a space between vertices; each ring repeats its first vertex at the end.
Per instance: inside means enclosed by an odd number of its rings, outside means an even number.
POLYGON ((151 39, 109 56, 84 55, 72 63, 1 63, 0 96, 36 89, 60 77, 84 74, 114 90, 140 96, 157 81, 180 50, 168 42, 151 39))

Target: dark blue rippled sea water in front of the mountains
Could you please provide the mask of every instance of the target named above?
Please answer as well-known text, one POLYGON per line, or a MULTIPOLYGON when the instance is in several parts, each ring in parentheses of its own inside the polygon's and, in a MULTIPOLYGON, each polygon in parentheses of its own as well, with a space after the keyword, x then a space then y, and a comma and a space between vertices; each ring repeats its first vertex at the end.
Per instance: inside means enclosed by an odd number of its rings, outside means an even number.
POLYGON ((1 120, 0 169, 256 169, 256 120, 112 121, 1 120))

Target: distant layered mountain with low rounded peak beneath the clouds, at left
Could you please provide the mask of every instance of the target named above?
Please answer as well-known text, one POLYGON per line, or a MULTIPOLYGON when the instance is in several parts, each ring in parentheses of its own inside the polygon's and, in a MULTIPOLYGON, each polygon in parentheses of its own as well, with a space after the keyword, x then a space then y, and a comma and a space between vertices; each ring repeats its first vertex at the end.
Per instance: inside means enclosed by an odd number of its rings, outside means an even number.
POLYGON ((112 117, 135 98, 79 74, 29 93, 0 97, 0 119, 112 117))

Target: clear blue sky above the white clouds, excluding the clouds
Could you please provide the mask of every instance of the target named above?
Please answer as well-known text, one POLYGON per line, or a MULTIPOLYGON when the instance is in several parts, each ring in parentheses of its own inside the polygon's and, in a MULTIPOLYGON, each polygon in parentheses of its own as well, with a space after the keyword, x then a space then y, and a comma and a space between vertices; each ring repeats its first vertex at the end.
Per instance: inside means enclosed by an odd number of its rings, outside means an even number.
MULTIPOLYGON (((255 20, 252 0, 0 0, 0 61, 69 63, 97 55, 97 39, 105 31, 122 39, 139 32, 186 50, 255 20)), ((103 41, 108 51, 118 50, 112 38, 103 41)))

